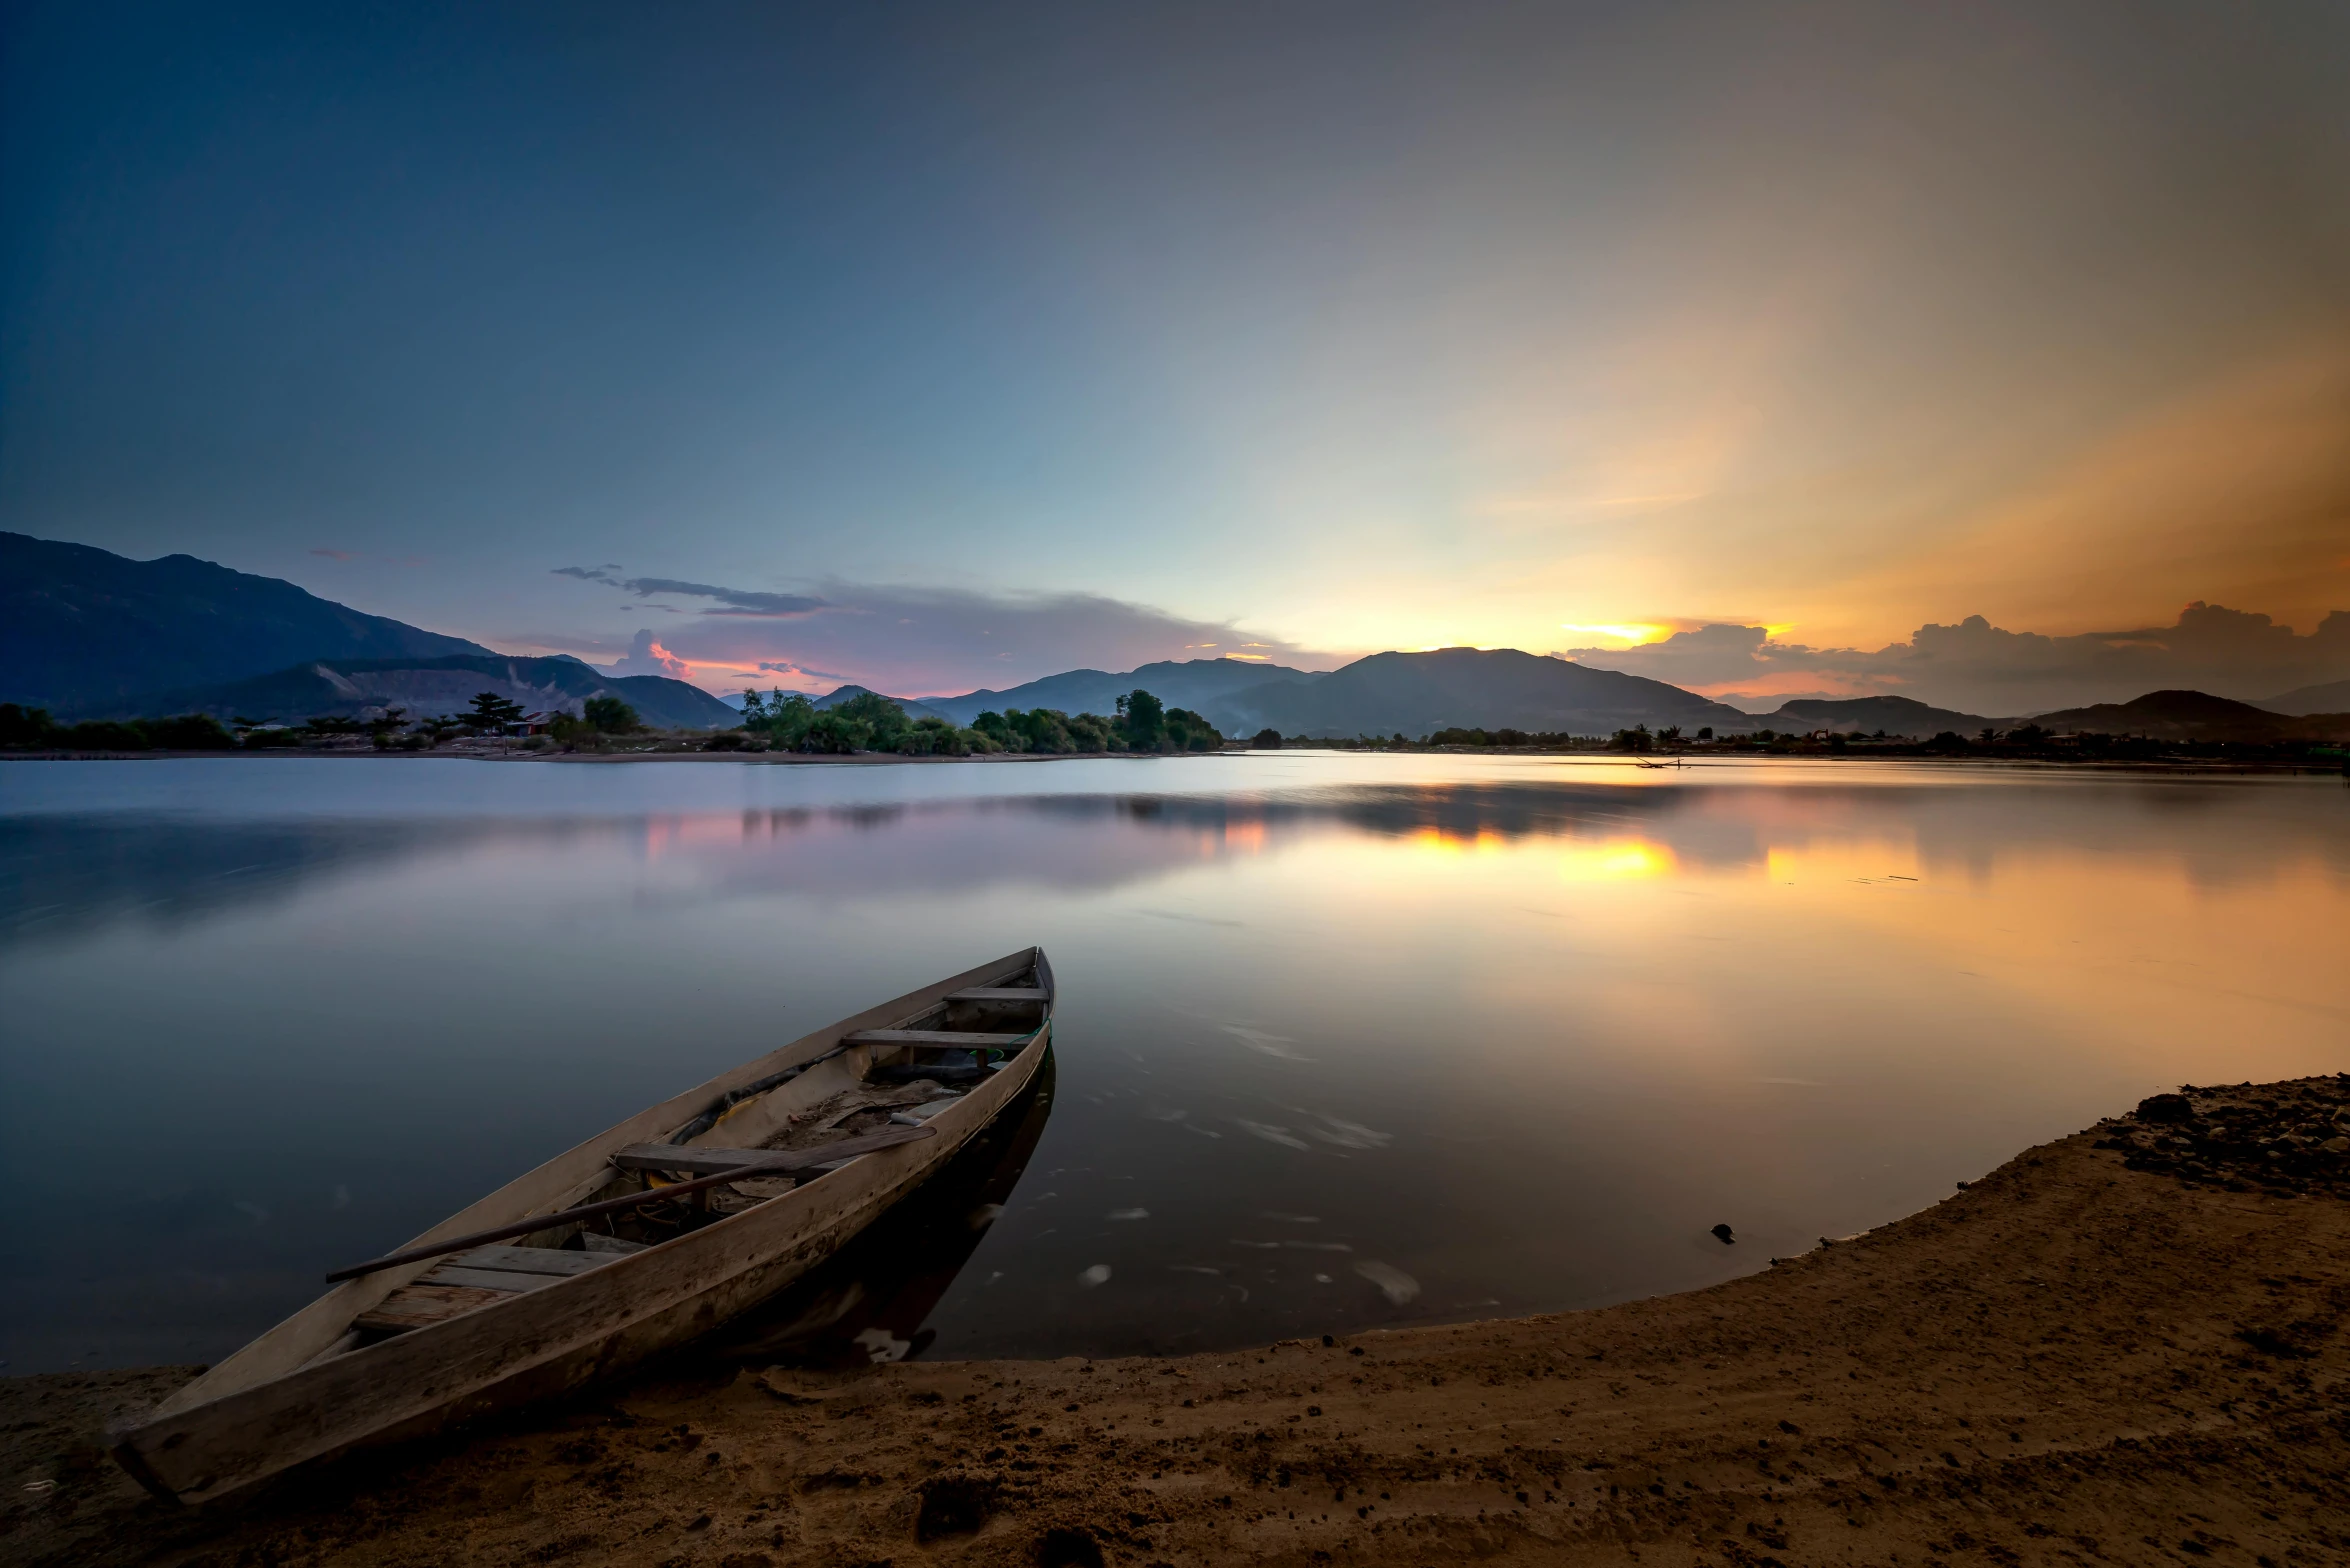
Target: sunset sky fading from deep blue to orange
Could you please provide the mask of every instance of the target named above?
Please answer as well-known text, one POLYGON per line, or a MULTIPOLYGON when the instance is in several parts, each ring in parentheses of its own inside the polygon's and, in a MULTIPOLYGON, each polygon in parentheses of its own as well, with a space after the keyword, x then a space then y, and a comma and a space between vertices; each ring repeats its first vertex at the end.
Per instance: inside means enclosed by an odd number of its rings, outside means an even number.
POLYGON ((1955 701, 1859 654, 2193 602, 2350 677, 2338 2, 0 28, 14 531, 717 689, 1955 701))

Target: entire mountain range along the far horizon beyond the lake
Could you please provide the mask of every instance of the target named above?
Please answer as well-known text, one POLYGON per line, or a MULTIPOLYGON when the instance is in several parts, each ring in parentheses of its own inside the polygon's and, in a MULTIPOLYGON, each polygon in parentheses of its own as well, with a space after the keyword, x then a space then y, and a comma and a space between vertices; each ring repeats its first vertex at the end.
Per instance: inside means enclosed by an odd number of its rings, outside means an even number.
MULTIPOLYGON (((1426 736, 1441 729, 1520 729, 1607 736, 1645 724, 1711 726, 1720 736, 1817 729, 1915 736, 2012 729, 2019 719, 1934 708, 1906 696, 1798 698, 1751 715, 1659 679, 1596 670, 1516 649, 1372 654, 1340 670, 1191 658, 1126 672, 1065 670, 1010 689, 895 698, 914 717, 968 724, 994 708, 1114 712, 1135 689, 1191 708, 1224 733, 1426 736)), ((477 691, 524 708, 571 708, 618 696, 663 729, 714 729, 738 710, 663 675, 616 677, 571 656, 522 658, 385 616, 320 599, 280 578, 190 555, 134 562, 89 545, 0 534, 0 701, 59 717, 357 715, 407 708, 461 710, 477 691)), ((832 708, 865 686, 841 686, 832 708)), ((2054 715, 2056 731, 2094 729, 2174 741, 2350 733, 2350 682, 2232 703, 2200 691, 2155 691, 2054 715), (2331 719, 2326 715, 2334 715, 2331 719)))

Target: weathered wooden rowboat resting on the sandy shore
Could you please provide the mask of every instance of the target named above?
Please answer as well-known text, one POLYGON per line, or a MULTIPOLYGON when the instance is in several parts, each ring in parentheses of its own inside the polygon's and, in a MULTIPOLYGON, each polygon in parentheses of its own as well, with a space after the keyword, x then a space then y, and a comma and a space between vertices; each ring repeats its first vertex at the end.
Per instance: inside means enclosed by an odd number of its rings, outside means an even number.
POLYGON ((118 1427, 115 1458, 209 1502, 696 1340, 938 1171, 1036 1074, 1050 1025, 1053 966, 1027 947, 743 1063, 338 1269, 118 1427))

